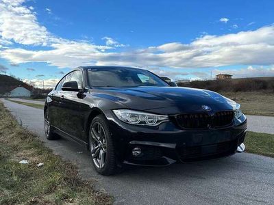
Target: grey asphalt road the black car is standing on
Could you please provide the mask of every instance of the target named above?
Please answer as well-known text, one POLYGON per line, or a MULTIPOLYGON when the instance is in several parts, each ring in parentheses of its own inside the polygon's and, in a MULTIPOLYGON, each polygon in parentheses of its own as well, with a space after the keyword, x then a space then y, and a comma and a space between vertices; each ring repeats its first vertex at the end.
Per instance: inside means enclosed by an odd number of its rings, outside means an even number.
POLYGON ((116 176, 99 176, 82 146, 47 141, 41 109, 3 100, 23 126, 45 145, 79 167, 84 179, 115 197, 115 204, 274 204, 274 159, 235 154, 225 159, 169 167, 129 167, 116 176))

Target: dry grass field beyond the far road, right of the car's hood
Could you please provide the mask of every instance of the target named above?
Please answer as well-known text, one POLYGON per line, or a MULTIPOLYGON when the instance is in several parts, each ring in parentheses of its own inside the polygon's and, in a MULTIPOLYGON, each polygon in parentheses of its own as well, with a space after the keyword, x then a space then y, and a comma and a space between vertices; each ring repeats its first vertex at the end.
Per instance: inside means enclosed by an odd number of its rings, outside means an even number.
POLYGON ((240 103, 247 115, 274 116, 274 92, 221 92, 240 103))

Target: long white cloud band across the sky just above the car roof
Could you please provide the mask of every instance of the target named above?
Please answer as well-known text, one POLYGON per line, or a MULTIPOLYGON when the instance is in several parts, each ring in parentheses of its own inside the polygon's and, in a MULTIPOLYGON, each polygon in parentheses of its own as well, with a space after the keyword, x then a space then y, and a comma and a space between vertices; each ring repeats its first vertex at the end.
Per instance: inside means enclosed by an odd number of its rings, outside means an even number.
POLYGON ((234 64, 274 64, 274 26, 223 36, 206 35, 190 44, 173 42, 127 52, 105 52, 110 46, 88 42, 51 44, 47 51, 4 49, 0 56, 11 63, 47 62, 60 68, 85 65, 208 68, 234 64))

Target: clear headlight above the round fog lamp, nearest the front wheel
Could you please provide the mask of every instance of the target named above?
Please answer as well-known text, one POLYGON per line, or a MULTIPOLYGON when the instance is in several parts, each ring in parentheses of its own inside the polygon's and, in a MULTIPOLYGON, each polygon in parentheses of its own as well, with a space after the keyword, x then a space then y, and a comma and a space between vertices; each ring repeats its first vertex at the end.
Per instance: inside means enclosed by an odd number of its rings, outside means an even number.
POLYGON ((115 109, 113 112, 119 120, 129 124, 156 126, 162 122, 169 121, 167 115, 155 115, 130 109, 115 109))

